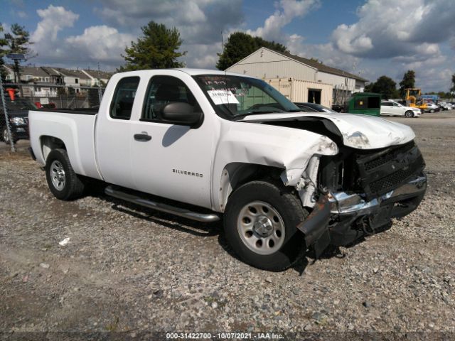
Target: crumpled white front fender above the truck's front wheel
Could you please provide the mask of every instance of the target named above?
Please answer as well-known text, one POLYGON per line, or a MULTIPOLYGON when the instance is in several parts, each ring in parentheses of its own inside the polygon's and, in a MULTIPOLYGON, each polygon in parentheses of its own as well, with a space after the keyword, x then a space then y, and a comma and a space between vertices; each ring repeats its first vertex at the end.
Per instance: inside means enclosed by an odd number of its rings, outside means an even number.
POLYGON ((285 185, 299 183, 311 156, 336 155, 338 147, 327 136, 282 126, 226 122, 221 126, 220 140, 213 164, 213 210, 223 211, 218 195, 225 171, 231 163, 247 163, 282 168, 285 185), (224 173, 223 173, 224 171, 224 173), (219 189, 219 191, 218 191, 219 189))

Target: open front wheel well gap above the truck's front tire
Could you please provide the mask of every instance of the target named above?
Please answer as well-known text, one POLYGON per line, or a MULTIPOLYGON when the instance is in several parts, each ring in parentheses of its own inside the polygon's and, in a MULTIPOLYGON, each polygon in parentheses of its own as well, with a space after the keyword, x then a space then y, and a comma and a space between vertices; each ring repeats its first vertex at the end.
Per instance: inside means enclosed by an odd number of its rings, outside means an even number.
POLYGON ((224 212, 226 202, 234 190, 252 180, 277 179, 283 168, 252 163, 229 163, 223 169, 220 180, 220 210, 224 212))

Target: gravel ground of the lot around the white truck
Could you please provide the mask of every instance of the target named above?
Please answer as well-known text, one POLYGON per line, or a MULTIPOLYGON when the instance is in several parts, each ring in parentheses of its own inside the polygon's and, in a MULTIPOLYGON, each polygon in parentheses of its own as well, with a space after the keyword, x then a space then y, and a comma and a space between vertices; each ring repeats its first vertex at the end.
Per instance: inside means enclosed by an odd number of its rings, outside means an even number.
POLYGON ((323 338, 351 331, 453 340, 455 111, 390 120, 412 126, 427 162, 419 209, 341 248, 343 257, 302 260, 280 273, 237 260, 219 223, 127 205, 97 186, 80 200, 57 200, 28 141, 14 154, 1 144, 0 339, 43 331, 323 338))

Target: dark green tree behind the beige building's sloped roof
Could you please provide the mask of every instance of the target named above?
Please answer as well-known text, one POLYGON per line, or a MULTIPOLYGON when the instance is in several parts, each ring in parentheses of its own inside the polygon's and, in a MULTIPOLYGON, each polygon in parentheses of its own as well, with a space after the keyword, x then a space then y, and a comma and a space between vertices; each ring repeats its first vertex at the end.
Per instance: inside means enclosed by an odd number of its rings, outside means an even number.
POLYGON ((228 41, 225 43, 223 53, 217 53, 218 62, 216 63, 216 67, 218 70, 226 70, 228 67, 262 47, 289 53, 287 47, 280 43, 264 40, 260 37, 253 37, 243 32, 235 32, 229 36, 228 41))

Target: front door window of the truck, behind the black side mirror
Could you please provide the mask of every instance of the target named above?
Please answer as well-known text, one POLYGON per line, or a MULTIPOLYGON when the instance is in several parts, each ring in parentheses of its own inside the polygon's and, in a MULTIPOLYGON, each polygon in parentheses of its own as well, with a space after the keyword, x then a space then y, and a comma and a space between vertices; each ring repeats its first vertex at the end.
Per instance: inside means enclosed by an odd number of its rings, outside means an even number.
POLYGON ((188 103, 193 112, 202 112, 196 98, 181 80, 170 76, 151 77, 141 121, 162 121, 164 107, 173 102, 188 103))

